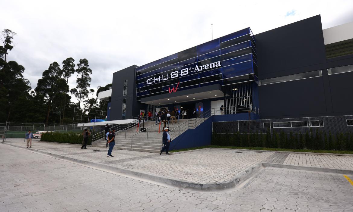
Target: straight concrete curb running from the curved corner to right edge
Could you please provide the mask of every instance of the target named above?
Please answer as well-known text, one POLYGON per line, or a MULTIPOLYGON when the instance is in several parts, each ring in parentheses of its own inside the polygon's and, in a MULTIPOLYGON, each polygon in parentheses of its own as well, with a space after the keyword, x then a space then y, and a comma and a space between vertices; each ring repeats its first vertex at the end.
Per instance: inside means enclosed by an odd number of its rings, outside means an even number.
POLYGON ((347 170, 347 169, 321 168, 321 167, 310 167, 310 166, 294 166, 294 165, 279 164, 279 163, 264 163, 264 162, 262 162, 262 166, 263 167, 272 167, 272 168, 285 168, 285 169, 295 169, 295 170, 304 170, 304 171, 325 172, 325 173, 334 173, 334 174, 353 174, 353 170, 347 170))

